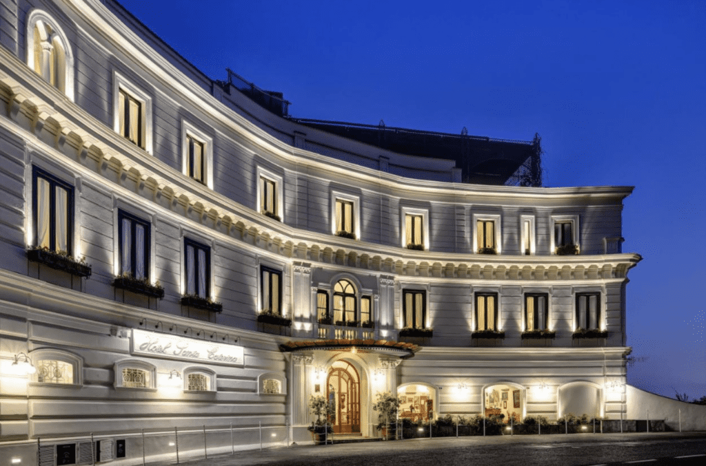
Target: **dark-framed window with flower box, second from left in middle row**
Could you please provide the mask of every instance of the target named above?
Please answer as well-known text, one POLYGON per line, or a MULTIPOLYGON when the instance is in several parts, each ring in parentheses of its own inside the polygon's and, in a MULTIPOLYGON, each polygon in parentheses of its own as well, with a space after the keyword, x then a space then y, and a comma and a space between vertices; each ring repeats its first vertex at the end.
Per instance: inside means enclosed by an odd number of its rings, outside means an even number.
POLYGON ((125 211, 118 211, 120 273, 149 278, 150 223, 125 211))

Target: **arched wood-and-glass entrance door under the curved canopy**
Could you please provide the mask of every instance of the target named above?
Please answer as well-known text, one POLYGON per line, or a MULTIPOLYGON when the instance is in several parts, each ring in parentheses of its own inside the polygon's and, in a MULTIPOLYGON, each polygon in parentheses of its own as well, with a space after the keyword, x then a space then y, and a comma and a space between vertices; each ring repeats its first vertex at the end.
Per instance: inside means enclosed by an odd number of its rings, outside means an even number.
POLYGON ((326 379, 326 396, 333 404, 334 434, 360 434, 360 374, 353 364, 338 360, 326 379))

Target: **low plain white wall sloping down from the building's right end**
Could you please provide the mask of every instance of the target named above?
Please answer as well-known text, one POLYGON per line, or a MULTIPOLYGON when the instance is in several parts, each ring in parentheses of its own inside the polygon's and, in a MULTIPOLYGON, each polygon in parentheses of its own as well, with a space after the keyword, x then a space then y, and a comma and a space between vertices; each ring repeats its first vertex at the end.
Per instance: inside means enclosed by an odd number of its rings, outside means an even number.
POLYGON ((679 430, 681 411, 681 430, 706 430, 706 406, 684 403, 664 396, 640 390, 631 385, 626 387, 628 411, 626 419, 664 419, 671 429, 679 430))

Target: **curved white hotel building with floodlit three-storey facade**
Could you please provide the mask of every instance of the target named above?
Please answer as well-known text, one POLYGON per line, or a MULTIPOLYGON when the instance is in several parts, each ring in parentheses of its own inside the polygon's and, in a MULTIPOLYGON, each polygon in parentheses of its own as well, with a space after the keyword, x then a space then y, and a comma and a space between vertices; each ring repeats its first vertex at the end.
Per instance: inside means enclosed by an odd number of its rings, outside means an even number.
POLYGON ((112 0, 4 1, 0 464, 311 441, 312 395, 361 436, 384 391, 626 416, 632 188, 479 184, 538 140, 434 135, 489 147, 474 171, 256 100, 112 0))

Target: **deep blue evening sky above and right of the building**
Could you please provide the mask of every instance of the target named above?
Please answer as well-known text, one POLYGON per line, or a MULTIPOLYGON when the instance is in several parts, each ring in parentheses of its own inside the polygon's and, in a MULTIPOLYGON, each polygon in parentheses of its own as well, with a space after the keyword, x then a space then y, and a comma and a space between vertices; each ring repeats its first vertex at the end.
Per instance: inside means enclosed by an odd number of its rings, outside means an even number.
POLYGON ((302 118, 531 140, 546 186, 634 185, 630 384, 706 396, 705 1, 121 0, 302 118), (704 294, 702 294, 704 293, 704 294))

